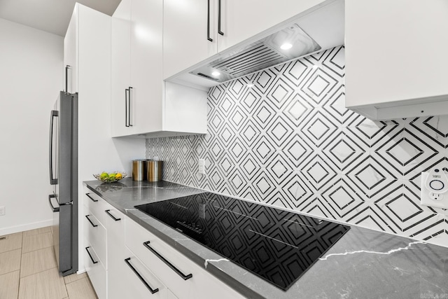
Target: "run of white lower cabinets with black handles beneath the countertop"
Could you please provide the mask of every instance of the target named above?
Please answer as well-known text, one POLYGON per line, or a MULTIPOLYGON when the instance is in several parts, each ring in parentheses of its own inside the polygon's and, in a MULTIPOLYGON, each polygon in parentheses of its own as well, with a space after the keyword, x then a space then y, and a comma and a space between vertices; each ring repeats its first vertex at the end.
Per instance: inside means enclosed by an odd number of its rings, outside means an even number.
POLYGON ((244 298, 102 197, 85 193, 85 269, 99 299, 244 298))

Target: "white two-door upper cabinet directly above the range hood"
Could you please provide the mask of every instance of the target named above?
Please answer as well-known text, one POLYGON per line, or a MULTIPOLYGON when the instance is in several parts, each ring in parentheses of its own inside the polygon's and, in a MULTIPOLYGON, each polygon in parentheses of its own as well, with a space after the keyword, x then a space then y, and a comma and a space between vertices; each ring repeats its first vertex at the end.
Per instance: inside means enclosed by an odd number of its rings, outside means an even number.
POLYGON ((323 0, 165 0, 164 78, 307 11, 323 0))

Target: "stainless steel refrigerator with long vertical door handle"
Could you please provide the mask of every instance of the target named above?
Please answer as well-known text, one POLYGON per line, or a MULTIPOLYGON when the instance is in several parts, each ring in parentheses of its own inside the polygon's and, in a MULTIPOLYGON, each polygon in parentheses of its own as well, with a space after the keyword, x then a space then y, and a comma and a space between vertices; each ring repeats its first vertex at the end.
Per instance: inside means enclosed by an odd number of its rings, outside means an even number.
POLYGON ((59 272, 78 270, 78 94, 60 92, 50 114, 53 242, 59 272))

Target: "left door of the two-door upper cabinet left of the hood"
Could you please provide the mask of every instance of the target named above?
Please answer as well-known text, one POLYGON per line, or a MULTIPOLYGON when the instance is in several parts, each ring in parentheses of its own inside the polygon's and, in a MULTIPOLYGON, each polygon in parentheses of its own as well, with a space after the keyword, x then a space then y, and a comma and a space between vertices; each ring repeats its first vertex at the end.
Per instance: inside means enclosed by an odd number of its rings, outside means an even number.
POLYGON ((127 127, 127 88, 131 84, 131 1, 123 0, 113 13, 111 47, 112 136, 130 134, 127 127))

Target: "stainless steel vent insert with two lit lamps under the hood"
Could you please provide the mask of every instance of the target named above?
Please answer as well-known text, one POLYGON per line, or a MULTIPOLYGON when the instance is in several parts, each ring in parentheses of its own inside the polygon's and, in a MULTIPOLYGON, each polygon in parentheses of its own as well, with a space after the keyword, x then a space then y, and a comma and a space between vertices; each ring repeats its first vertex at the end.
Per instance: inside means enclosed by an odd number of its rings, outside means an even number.
POLYGON ((260 41, 227 53, 214 62, 190 71, 190 74, 222 83, 318 50, 321 50, 321 46, 299 25, 293 24, 260 41))

